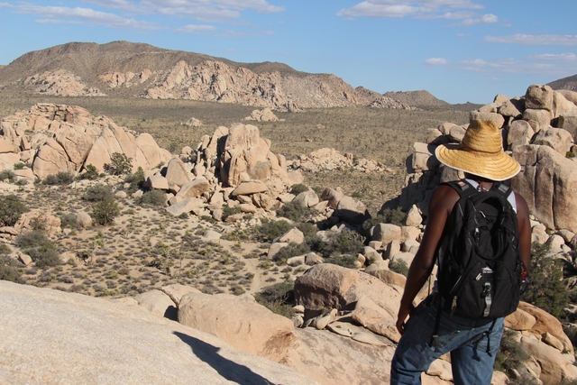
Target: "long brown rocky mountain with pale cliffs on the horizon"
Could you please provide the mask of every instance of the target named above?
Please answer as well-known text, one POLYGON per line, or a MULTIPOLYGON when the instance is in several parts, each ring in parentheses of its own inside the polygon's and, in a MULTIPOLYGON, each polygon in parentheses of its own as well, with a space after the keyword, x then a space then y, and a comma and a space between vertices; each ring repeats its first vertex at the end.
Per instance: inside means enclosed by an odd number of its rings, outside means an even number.
POLYGON ((426 91, 418 92, 428 97, 382 99, 334 75, 299 72, 282 63, 236 63, 128 41, 70 42, 26 53, 0 68, 0 87, 57 96, 192 99, 279 111, 354 105, 408 108, 415 102, 431 105, 429 99, 446 105, 426 91))

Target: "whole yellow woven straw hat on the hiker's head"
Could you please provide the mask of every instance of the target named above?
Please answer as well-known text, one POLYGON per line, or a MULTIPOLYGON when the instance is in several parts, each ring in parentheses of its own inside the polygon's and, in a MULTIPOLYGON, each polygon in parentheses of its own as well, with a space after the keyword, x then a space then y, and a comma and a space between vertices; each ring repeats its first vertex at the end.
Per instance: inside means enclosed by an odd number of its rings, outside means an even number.
POLYGON ((513 178, 521 170, 517 160, 503 151, 499 127, 493 122, 472 121, 463 142, 440 145, 435 155, 446 166, 491 180, 513 178))

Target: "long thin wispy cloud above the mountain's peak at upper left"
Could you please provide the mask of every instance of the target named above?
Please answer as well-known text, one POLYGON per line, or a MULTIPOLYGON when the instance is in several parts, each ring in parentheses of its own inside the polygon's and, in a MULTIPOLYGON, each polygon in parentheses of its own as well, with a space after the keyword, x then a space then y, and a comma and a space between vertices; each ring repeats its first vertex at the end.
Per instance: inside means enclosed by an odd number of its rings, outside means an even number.
MULTIPOLYGON (((137 30, 157 30, 160 27, 156 23, 142 22, 134 19, 126 19, 117 14, 108 14, 89 8, 69 8, 66 6, 40 6, 20 5, 16 12, 20 14, 40 14, 52 23, 55 22, 85 22, 94 25, 102 25, 111 28, 132 28, 137 30)), ((43 20, 47 23, 48 20, 43 20)))

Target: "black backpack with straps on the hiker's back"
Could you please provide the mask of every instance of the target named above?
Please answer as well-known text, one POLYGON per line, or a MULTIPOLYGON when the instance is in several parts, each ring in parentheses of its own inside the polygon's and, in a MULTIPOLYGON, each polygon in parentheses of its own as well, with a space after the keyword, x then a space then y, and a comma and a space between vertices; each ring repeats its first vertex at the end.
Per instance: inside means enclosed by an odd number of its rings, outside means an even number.
POLYGON ((508 202, 512 190, 500 182, 486 192, 466 180, 445 184, 460 198, 441 243, 440 307, 450 316, 508 316, 517 309, 522 280, 517 214, 508 202))

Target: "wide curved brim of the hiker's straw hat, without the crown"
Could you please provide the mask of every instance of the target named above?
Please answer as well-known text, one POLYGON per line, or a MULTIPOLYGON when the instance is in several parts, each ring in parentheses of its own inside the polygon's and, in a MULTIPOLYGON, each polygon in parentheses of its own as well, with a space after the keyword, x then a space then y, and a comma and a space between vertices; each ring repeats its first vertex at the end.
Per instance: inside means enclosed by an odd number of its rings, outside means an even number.
POLYGON ((437 146, 435 156, 445 166, 497 181, 511 179, 521 170, 517 160, 505 151, 471 151, 456 143, 437 146))

